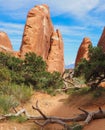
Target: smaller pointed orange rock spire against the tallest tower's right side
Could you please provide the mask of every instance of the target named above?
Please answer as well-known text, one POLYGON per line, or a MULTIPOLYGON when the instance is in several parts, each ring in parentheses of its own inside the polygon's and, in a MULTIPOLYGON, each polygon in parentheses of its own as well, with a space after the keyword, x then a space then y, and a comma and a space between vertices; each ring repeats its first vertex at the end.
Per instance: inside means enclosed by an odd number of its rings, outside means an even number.
POLYGON ((64 71, 64 52, 63 40, 59 30, 52 35, 51 48, 48 56, 48 71, 64 71))

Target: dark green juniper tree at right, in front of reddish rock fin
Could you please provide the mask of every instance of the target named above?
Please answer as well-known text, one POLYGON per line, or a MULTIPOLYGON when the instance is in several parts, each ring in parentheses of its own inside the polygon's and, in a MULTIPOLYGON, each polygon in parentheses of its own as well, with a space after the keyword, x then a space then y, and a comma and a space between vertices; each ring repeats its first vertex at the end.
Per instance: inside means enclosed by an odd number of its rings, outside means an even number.
POLYGON ((92 89, 105 80, 105 52, 100 47, 89 47, 89 60, 82 61, 75 68, 75 76, 85 77, 92 89))

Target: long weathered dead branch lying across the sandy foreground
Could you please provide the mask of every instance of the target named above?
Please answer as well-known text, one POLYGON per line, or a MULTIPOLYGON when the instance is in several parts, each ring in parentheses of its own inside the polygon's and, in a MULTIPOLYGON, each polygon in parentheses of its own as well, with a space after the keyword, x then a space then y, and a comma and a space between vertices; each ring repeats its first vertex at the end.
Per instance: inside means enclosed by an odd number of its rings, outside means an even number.
POLYGON ((42 128, 44 128, 48 124, 60 124, 64 128, 66 128, 67 130, 73 130, 74 127, 77 127, 77 126, 70 127, 67 124, 68 122, 83 121, 83 126, 85 126, 86 124, 90 123, 92 120, 105 118, 105 111, 102 110, 101 107, 98 108, 98 111, 93 111, 93 112, 88 112, 88 111, 86 111, 82 108, 78 108, 82 112, 82 114, 79 114, 79 115, 77 115, 76 117, 73 117, 73 118, 47 116, 39 108, 38 101, 36 102, 35 106, 32 106, 32 108, 34 110, 38 111, 41 116, 29 115, 28 112, 25 109, 22 109, 20 111, 17 111, 16 109, 14 109, 15 113, 0 115, 0 120, 9 119, 12 116, 15 116, 15 117, 20 116, 20 115, 22 116, 22 114, 24 114, 26 116, 27 120, 33 120, 35 122, 35 124, 37 124, 38 126, 40 126, 42 128))

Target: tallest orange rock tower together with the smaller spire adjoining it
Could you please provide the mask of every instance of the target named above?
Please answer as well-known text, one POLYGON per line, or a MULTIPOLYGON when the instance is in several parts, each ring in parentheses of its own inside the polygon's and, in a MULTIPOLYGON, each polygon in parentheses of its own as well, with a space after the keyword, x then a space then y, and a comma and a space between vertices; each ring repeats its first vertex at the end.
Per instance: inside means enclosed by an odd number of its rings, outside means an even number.
POLYGON ((32 8, 27 15, 20 55, 35 52, 48 64, 48 71, 64 70, 63 40, 60 32, 54 32, 47 5, 32 8))

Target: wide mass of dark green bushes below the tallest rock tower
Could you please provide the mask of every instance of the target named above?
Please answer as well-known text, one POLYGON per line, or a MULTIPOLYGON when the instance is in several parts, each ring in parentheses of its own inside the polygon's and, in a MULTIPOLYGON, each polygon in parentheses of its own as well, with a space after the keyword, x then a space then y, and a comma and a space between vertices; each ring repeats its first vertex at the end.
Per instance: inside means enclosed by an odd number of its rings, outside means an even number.
MULTIPOLYGON (((0 53, 0 57, 0 76, 1 82, 3 83, 7 82, 20 86, 24 84, 26 88, 28 88, 27 86, 32 85, 35 90, 43 89, 44 91, 47 91, 48 89, 49 91, 53 91, 63 85, 60 73, 47 72, 46 62, 43 61, 42 57, 37 56, 35 53, 27 53, 24 60, 4 53, 0 53)), ((5 84, 3 86, 5 88, 7 85, 5 84)), ((9 87, 11 88, 11 86, 9 87)), ((21 89, 23 88, 24 87, 21 87, 21 89)), ((19 89, 20 87, 18 88, 18 91, 22 91, 19 89)), ((9 91, 11 91, 11 89, 9 91)))

